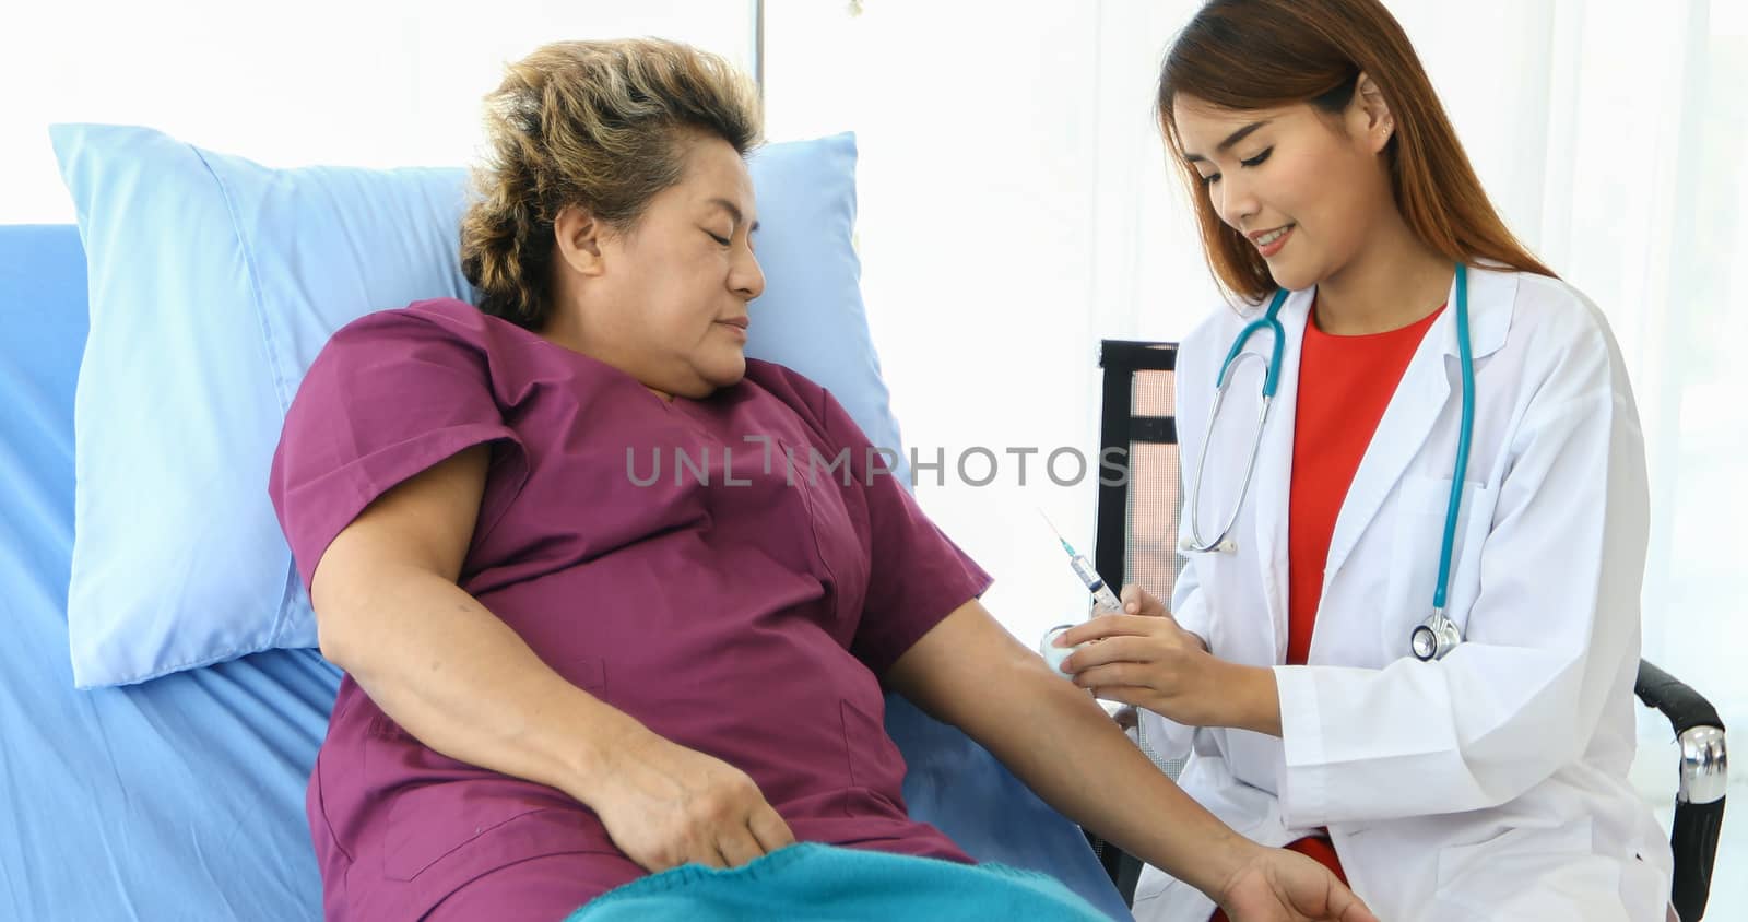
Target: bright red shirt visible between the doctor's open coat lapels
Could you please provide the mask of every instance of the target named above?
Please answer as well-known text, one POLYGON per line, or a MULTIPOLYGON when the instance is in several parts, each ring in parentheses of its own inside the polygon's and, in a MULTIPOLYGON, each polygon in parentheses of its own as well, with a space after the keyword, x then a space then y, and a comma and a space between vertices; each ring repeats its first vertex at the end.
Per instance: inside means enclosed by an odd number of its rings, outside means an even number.
POLYGON ((1440 306, 1386 334, 1339 337, 1316 325, 1316 304, 1299 356, 1294 482, 1287 508, 1287 665, 1304 665, 1323 595, 1323 566, 1335 515, 1372 444, 1377 421, 1440 306))

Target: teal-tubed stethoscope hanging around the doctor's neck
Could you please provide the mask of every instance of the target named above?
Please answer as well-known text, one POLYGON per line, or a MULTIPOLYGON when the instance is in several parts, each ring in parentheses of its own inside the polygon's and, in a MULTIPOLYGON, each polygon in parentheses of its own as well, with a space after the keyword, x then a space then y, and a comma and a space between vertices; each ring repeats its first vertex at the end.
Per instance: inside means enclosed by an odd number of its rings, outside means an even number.
MULTIPOLYGON (((1183 540, 1183 550, 1196 554, 1232 554, 1238 545, 1232 543, 1231 533, 1232 526, 1238 524, 1238 513, 1245 508, 1245 496, 1250 492, 1250 478, 1257 471, 1257 452, 1262 449, 1262 428, 1269 421, 1269 407, 1274 403, 1274 391, 1281 382, 1281 342, 1287 339, 1287 330, 1281 328, 1278 318, 1281 304, 1287 300, 1287 290, 1274 293, 1274 300, 1269 302, 1267 313, 1260 320, 1253 320, 1245 325, 1238 334, 1238 342, 1232 349, 1225 353, 1225 361, 1220 365, 1220 374, 1215 377, 1215 398, 1213 410, 1208 414, 1208 435, 1203 438, 1203 456, 1196 461, 1196 480, 1190 482, 1190 536, 1183 540), (1225 384, 1227 372, 1232 370, 1245 358, 1262 360, 1260 353, 1246 353, 1245 344, 1257 332, 1269 332, 1274 339, 1274 346, 1269 351, 1267 365, 1262 375, 1262 410, 1257 416, 1257 433, 1250 442, 1250 463, 1245 466, 1245 482, 1238 491, 1238 503, 1232 506, 1232 515, 1225 519, 1220 531, 1213 540, 1204 540, 1201 531, 1201 480, 1203 468, 1208 466, 1206 445, 1213 440, 1215 421, 1220 419, 1220 407, 1225 403, 1225 384)), ((1456 519, 1458 510, 1463 501, 1463 475, 1468 471, 1468 438, 1470 430, 1475 424, 1475 358, 1468 344, 1468 269, 1460 262, 1456 264, 1456 349, 1463 363, 1463 421, 1456 437, 1456 466, 1451 473, 1451 501, 1444 513, 1444 543, 1439 548, 1439 585, 1432 594, 1432 616, 1414 627, 1409 636, 1409 650, 1414 658, 1439 660, 1446 653, 1456 650, 1456 644, 1463 643, 1463 630, 1456 627, 1456 622, 1446 616, 1446 588, 1451 581, 1451 548, 1456 545, 1456 519)))

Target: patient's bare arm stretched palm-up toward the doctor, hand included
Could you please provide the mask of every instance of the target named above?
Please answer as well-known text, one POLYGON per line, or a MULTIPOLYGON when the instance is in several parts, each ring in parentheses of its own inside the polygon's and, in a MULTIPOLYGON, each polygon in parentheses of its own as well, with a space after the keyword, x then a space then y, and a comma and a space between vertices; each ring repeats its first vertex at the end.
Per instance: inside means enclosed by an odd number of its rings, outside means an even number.
POLYGON ((981 602, 947 615, 886 681, 995 753, 1045 802, 1206 892, 1238 920, 1370 920, 1320 864, 1234 833, 981 602))

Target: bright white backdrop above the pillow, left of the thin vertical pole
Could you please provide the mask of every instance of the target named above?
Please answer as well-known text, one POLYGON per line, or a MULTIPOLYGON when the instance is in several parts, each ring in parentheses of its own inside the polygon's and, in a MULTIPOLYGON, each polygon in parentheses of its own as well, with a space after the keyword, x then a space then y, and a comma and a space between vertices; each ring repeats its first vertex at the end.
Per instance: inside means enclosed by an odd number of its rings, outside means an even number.
POLYGON ((0 222, 70 222, 51 122, 143 124, 267 166, 460 166, 503 65, 662 35, 748 65, 722 0, 80 0, 0 14, 0 222))

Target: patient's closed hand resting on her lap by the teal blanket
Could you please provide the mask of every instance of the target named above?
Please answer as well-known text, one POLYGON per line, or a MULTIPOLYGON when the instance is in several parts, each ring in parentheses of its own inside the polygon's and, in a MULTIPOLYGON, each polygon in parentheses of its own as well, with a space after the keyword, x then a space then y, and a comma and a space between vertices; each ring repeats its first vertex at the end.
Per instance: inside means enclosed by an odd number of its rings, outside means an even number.
POLYGON ((650 873, 736 868, 795 843, 746 772, 656 733, 621 746, 586 803, 619 850, 650 873))

